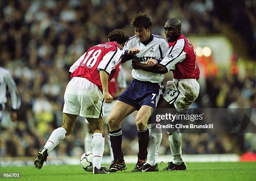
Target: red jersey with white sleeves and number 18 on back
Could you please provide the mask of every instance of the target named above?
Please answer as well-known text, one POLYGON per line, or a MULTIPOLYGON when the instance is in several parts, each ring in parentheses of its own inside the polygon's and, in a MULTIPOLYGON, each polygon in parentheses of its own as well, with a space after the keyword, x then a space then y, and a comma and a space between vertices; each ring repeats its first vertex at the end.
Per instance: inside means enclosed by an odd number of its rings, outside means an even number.
POLYGON ((122 52, 115 42, 95 45, 87 50, 69 69, 71 78, 83 77, 96 84, 102 91, 99 70, 109 74, 108 82, 114 77, 121 63, 122 52))

